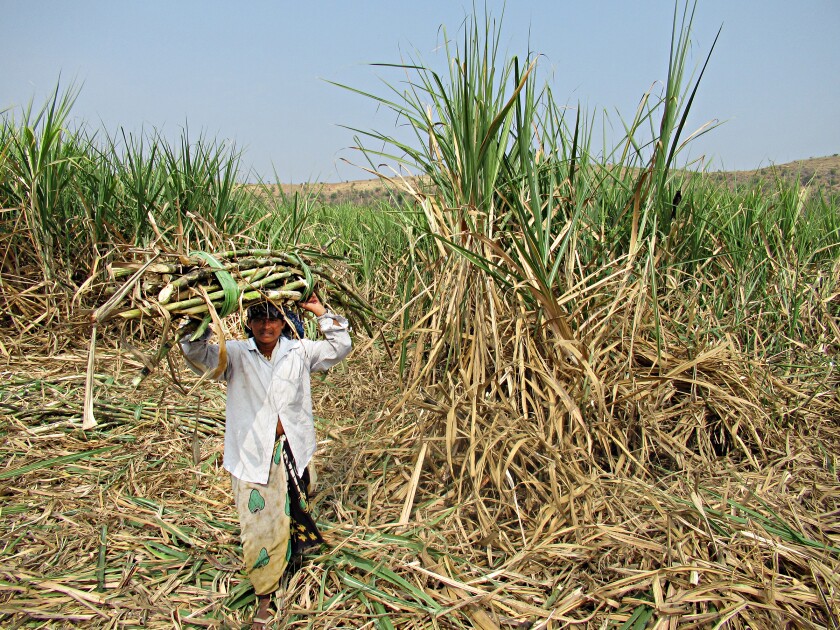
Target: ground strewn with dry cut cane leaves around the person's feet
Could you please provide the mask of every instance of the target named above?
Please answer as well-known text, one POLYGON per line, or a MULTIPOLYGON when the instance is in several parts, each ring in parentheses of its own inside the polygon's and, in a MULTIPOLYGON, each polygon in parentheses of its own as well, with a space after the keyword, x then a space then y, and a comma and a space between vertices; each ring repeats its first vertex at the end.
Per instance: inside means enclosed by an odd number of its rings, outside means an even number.
MULTIPOLYGON (((106 346, 99 424, 82 431, 85 345, 3 343, 15 352, 0 391, 3 625, 247 622, 253 595, 221 468, 223 390, 186 398, 164 371, 128 387, 142 364, 106 346)), ((723 387, 730 361, 710 351, 682 371, 723 387)), ((678 386, 616 392, 658 414, 627 427, 626 451, 599 453, 615 427, 587 428, 590 450, 576 448, 574 421, 546 429, 569 446, 549 448, 498 402, 482 405, 468 441, 446 424, 469 409, 429 393, 403 403, 387 352, 358 334, 347 364, 315 380, 329 548, 278 594, 281 627, 835 627, 840 429, 808 422, 807 405, 836 409, 836 393, 802 400, 796 422, 750 425, 749 397, 710 388, 692 401, 678 386), (685 418, 710 405, 724 418, 720 443, 742 437, 706 456, 685 418), (643 466, 644 448, 659 452, 643 466)))

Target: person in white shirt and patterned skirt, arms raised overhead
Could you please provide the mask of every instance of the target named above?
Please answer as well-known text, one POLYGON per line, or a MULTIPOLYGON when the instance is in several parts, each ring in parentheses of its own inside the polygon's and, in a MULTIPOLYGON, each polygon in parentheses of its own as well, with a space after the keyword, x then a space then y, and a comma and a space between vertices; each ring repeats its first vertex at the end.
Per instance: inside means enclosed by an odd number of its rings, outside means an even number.
MULTIPOLYGON (((323 542, 309 512, 309 464, 315 452, 310 372, 325 371, 351 349, 347 320, 316 295, 300 306, 317 318, 323 340, 304 339, 294 313, 261 302, 248 308, 246 341, 225 344, 227 381, 224 467, 231 475, 245 566, 257 594, 254 627, 271 619, 271 595, 290 560, 323 542)), ((181 348, 193 371, 216 370, 220 347, 209 333, 181 348)))

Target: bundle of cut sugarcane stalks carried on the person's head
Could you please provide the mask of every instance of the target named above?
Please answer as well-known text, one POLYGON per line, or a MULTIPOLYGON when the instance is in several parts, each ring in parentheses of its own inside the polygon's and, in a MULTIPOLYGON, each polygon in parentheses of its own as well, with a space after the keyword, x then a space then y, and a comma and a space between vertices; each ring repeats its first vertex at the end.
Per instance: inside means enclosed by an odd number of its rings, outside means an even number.
MULTIPOLYGON (((326 261, 327 256, 319 255, 326 261)), ((353 290, 325 265, 314 264, 300 251, 242 249, 188 256, 155 253, 145 262, 115 262, 108 268, 113 294, 91 315, 93 330, 88 356, 88 380, 93 374, 97 326, 111 319, 158 321, 161 345, 153 357, 137 355, 144 364, 134 384, 145 378, 182 339, 195 339, 207 326, 250 305, 269 300, 279 304, 306 300, 316 290, 370 332, 373 315, 353 290), (172 326, 173 319, 188 318, 172 326)), ((217 327, 217 331, 221 326, 217 327)), ((86 393, 83 428, 96 425, 93 418, 92 382, 86 393)))

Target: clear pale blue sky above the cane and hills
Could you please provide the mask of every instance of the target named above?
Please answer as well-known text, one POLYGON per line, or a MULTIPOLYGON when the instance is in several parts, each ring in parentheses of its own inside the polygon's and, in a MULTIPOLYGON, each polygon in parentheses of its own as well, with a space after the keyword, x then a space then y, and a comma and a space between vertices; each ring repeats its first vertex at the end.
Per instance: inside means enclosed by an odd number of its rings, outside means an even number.
MULTIPOLYGON (((477 2, 479 7, 484 2, 477 2)), ((494 15, 501 0, 486 0, 494 15)), ((672 0, 508 0, 503 47, 542 53, 556 98, 629 118, 666 78, 672 0)), ((367 175, 342 125, 392 132, 390 112, 327 81, 384 94, 399 75, 375 62, 419 53, 441 67, 439 27, 461 0, 0 0, 0 110, 44 102, 59 76, 81 92, 73 115, 175 138, 184 124, 230 141, 243 168, 281 181, 367 175)), ((720 40, 690 127, 724 124, 690 156, 751 169, 840 152, 840 1, 699 0, 690 68, 720 40)))

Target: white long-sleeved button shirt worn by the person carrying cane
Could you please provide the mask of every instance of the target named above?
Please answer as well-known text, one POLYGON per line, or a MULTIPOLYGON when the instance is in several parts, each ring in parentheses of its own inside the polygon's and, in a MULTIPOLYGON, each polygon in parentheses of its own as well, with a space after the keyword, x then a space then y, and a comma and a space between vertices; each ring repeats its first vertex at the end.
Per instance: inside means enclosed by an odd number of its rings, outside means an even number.
MULTIPOLYGON (((298 475, 312 459, 316 440, 309 374, 328 370, 352 347, 344 317, 325 313, 318 324, 324 340, 280 337, 271 360, 260 353, 253 339, 225 343, 227 367, 219 379, 228 384, 223 465, 237 479, 268 482, 278 418, 298 475)), ((207 340, 183 341, 181 349, 195 364, 190 367, 196 373, 219 364, 219 346, 207 340)))

